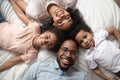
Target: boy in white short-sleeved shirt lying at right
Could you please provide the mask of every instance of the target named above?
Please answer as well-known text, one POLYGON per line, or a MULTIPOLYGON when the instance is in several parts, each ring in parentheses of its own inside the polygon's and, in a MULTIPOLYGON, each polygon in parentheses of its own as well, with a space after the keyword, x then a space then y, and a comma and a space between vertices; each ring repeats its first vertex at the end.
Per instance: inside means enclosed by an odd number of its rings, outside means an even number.
POLYGON ((109 35, 114 35, 120 43, 120 33, 115 27, 100 30, 94 34, 86 24, 74 28, 71 32, 80 47, 86 49, 88 66, 105 80, 116 80, 115 77, 106 76, 98 65, 120 77, 120 49, 107 40, 109 35))

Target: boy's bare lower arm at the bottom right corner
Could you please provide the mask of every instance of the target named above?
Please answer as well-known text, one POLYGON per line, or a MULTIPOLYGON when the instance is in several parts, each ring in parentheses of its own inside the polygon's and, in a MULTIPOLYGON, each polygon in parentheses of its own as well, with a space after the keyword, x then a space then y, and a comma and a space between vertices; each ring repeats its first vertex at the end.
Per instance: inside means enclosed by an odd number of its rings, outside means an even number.
POLYGON ((108 77, 106 76, 98 67, 92 69, 98 76, 102 77, 105 80, 117 80, 116 77, 108 77))

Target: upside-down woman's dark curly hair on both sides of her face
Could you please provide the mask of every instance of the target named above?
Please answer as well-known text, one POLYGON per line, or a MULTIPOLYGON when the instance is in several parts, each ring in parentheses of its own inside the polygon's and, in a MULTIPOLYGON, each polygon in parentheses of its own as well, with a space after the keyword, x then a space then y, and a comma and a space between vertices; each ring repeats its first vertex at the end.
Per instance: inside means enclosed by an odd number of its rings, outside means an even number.
MULTIPOLYGON (((71 27, 68 30, 64 31, 65 33, 68 33, 81 20, 80 19, 81 14, 79 13, 79 10, 77 8, 67 8, 66 11, 70 14, 71 19, 73 21, 71 27)), ((53 28, 54 27, 53 23, 54 23, 53 18, 52 17, 48 18, 46 21, 43 22, 42 30, 45 31, 50 28, 53 28)))

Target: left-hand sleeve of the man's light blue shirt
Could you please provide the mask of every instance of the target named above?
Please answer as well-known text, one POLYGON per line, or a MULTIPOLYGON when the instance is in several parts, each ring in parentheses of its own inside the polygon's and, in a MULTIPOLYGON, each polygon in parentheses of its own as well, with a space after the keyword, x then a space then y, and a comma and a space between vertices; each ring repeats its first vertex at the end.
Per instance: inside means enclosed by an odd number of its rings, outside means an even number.
POLYGON ((35 80, 37 69, 38 69, 39 62, 32 64, 25 75, 23 76, 22 80, 35 80))

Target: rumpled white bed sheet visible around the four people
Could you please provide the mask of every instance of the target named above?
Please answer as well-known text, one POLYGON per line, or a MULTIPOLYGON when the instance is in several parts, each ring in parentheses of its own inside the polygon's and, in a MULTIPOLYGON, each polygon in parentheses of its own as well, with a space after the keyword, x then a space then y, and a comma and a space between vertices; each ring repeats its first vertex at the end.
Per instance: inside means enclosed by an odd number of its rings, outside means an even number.
MULTIPOLYGON (((29 0, 25 1, 28 2, 29 0)), ((120 30, 120 8, 117 6, 114 0, 78 0, 76 8, 80 10, 85 22, 92 28, 94 32, 97 32, 100 29, 105 29, 109 26, 115 26, 120 30)), ((16 24, 24 26, 22 21, 16 16, 8 0, 0 0, 0 11, 6 20, 13 20, 16 24)), ((114 37, 110 37, 110 40, 116 46, 118 46, 114 37)), ((79 50, 79 53, 80 54, 74 67, 85 72, 87 80, 103 80, 88 68, 85 62, 86 60, 84 52, 81 49, 79 50)), ((0 50, 0 64, 13 56, 15 56, 13 53, 0 50)), ((51 60, 54 58, 54 53, 47 50, 40 50, 36 60, 51 60)), ((10 69, 1 72, 0 80, 21 80, 22 76, 30 65, 26 65, 24 63, 15 65, 10 69)), ((105 70, 101 66, 100 68, 103 70, 103 72, 105 72, 106 75, 114 76, 114 74, 105 70)))

